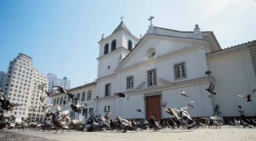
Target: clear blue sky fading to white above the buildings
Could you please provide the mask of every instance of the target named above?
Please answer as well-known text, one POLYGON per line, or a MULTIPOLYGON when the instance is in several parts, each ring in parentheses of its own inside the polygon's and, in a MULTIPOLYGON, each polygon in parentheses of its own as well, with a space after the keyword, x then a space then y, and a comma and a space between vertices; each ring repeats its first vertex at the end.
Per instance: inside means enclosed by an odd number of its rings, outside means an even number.
POLYGON ((40 72, 67 76, 71 87, 97 77, 101 34, 124 23, 139 38, 153 24, 181 31, 214 31, 222 48, 256 40, 256 1, 0 1, 0 71, 19 53, 40 72))

